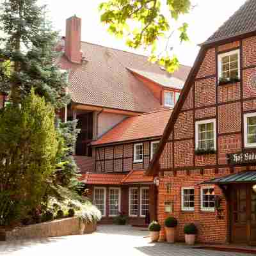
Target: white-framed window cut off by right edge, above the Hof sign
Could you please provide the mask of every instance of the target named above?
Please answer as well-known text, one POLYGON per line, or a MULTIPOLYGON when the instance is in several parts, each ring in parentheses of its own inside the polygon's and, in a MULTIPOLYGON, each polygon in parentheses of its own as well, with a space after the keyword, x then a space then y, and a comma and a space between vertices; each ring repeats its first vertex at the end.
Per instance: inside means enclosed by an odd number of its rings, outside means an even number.
POLYGON ((244 147, 256 147, 256 113, 244 114, 244 147))

